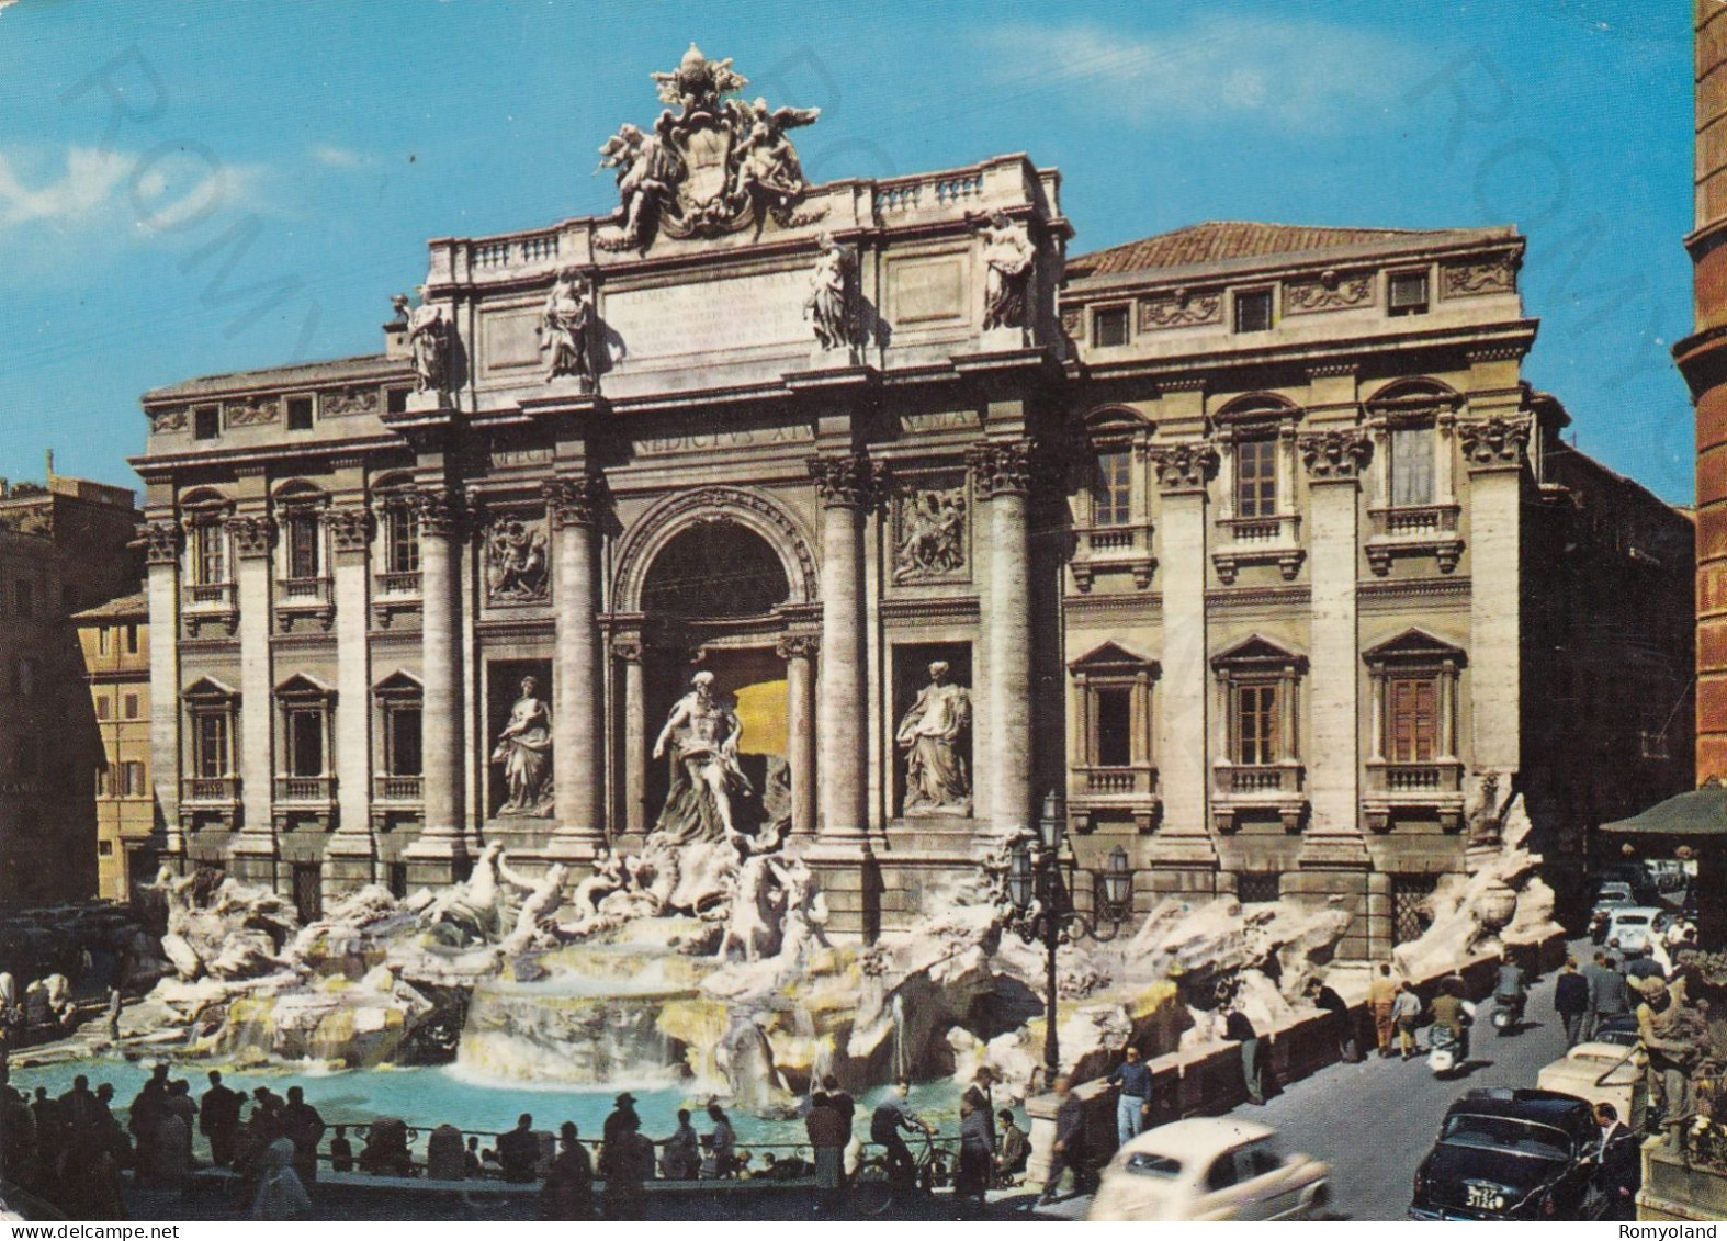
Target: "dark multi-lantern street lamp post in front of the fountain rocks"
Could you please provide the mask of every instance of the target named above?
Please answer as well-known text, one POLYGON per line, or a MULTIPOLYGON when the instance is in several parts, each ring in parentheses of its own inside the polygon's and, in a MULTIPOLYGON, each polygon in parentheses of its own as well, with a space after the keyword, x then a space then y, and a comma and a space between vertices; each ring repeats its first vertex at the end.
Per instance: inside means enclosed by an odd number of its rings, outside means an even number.
POLYGON ((1114 939, 1133 915, 1133 865, 1119 844, 1110 851, 1102 875, 1093 875, 1091 917, 1072 904, 1071 880, 1062 877, 1062 844, 1067 835, 1067 806, 1059 789, 1043 796, 1038 834, 1019 837, 1009 856, 1007 894, 1014 903, 1012 927, 1028 944, 1043 942, 1045 1020, 1043 1086, 1050 1089, 1060 1074, 1060 1041, 1055 1034, 1057 949, 1091 935, 1114 939), (1109 934, 1104 934, 1104 927, 1109 934))

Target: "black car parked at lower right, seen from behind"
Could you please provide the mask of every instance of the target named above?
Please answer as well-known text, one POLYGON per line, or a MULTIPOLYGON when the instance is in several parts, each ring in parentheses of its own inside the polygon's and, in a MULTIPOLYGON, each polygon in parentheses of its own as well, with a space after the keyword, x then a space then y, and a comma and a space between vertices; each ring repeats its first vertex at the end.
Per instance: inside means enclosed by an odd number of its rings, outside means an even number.
POLYGON ((1601 1219, 1599 1146, 1594 1110, 1572 1094, 1470 1091, 1414 1174, 1409 1219, 1601 1219))

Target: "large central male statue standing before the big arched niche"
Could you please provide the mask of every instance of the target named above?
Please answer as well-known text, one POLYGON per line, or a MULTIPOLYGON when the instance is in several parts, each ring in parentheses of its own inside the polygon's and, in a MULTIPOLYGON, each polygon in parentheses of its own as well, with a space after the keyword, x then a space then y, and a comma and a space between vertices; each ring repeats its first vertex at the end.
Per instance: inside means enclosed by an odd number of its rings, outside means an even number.
POLYGON ((653 746, 655 758, 672 746, 672 791, 653 834, 667 844, 739 841, 734 797, 753 791, 737 765, 743 725, 732 701, 713 692, 712 671, 698 671, 689 685, 653 746))

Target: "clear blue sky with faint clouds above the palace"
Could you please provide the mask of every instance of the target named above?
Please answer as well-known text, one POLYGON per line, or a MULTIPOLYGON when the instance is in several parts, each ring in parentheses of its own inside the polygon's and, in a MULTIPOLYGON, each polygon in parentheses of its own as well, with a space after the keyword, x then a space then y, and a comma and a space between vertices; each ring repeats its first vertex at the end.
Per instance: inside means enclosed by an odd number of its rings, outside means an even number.
POLYGON ((143 390, 375 352, 425 240, 613 204, 689 40, 812 180, 1024 150, 1074 252, 1200 219, 1528 236, 1527 376, 1692 494, 1689 5, 0 0, 0 475, 135 485, 143 390))

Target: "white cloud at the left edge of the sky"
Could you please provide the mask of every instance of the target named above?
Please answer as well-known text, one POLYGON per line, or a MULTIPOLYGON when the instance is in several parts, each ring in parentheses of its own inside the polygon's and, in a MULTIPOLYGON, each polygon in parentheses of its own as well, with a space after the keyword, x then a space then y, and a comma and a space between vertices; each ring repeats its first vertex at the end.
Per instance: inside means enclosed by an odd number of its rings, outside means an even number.
POLYGON ((0 233, 43 224, 59 231, 169 235, 256 202, 263 176, 259 166, 219 164, 190 147, 145 155, 67 147, 60 169, 0 150, 0 233))

